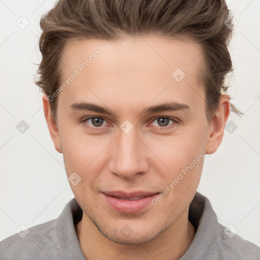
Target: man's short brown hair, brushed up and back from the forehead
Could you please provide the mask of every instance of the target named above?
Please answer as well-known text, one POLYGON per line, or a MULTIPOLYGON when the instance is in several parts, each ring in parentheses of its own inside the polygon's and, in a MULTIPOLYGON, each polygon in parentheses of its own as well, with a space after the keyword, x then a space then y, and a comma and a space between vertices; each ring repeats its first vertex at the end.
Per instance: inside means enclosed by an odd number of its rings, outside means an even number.
MULTIPOLYGON (((60 58, 69 41, 121 40, 149 34, 188 38, 200 43, 203 50, 201 77, 210 122, 221 94, 229 88, 225 77, 233 72, 228 51, 232 27, 225 25, 226 21, 232 24, 230 13, 225 0, 59 0, 41 17, 42 61, 35 83, 48 96, 58 89, 62 76, 60 58)), ((55 120, 57 98, 49 103, 55 120)), ((233 104, 231 111, 243 114, 233 104)))

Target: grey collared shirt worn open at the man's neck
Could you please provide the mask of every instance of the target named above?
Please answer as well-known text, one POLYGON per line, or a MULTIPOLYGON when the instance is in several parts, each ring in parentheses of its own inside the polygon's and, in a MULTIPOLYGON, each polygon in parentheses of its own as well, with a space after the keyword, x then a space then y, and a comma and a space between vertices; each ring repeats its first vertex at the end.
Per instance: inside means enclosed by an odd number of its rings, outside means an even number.
MULTIPOLYGON (((82 209, 73 198, 58 218, 29 228, 24 238, 15 234, 0 242, 0 259, 86 260, 75 231, 75 224, 81 218, 82 209)), ((218 223, 209 200, 199 192, 190 204, 189 221, 194 225, 196 235, 179 260, 260 260, 260 247, 218 223)), ((101 260, 105 250, 101 248, 97 255, 101 260)))

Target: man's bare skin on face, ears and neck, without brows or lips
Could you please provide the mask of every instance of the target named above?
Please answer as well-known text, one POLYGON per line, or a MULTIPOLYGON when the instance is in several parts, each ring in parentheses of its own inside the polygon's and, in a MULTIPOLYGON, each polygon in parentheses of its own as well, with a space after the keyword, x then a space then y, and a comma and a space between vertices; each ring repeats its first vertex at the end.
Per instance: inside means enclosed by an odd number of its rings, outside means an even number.
POLYGON ((199 154, 217 150, 230 114, 229 95, 220 97, 209 123, 200 45, 158 36, 73 41, 62 55, 63 79, 95 49, 101 53, 58 95, 56 122, 43 95, 49 132, 56 150, 63 153, 67 176, 77 172, 82 178, 76 186, 70 185, 83 209, 76 225, 83 254, 86 259, 178 259, 195 235, 188 209, 204 159, 157 205, 138 213, 114 210, 102 191, 164 192, 199 154), (180 82, 172 77, 177 68, 186 74, 180 82), (190 109, 141 113, 146 107, 172 101, 188 104, 190 109), (70 105, 75 102, 105 106, 113 115, 73 111, 70 105), (103 124, 93 124, 91 119, 81 122, 90 116, 103 118, 103 124), (177 122, 169 120, 172 127, 165 129, 158 117, 177 122), (120 128, 125 120, 134 127, 128 134, 120 128), (128 237, 120 233, 126 224, 133 230, 128 237))

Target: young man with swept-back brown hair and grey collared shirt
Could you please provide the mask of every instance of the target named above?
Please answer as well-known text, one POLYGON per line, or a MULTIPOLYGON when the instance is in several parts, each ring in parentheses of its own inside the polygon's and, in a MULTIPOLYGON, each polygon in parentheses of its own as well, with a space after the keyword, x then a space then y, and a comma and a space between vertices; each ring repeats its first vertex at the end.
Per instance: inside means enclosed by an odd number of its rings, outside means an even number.
POLYGON ((57 2, 36 83, 75 198, 1 259, 260 259, 196 192, 240 113, 224 94, 228 19, 220 0, 57 2))

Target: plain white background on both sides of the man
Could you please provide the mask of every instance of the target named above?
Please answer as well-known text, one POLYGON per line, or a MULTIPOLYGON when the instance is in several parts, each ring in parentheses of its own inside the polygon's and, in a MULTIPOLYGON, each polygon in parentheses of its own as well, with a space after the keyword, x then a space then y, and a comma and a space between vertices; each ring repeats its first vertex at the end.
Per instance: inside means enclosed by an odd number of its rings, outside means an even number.
MULTIPOLYGON (((58 217, 74 197, 33 82, 34 63, 41 60, 39 20, 54 3, 0 1, 0 241, 22 223, 30 228, 58 217), (21 16, 30 23, 24 30, 16 25, 21 16), (16 128, 21 120, 29 125, 24 134, 16 128)), ((231 134, 225 130, 218 151, 206 155, 198 191, 221 224, 233 224, 238 235, 260 246, 260 1, 226 3, 238 21, 229 48, 235 72, 228 93, 245 116, 230 116, 238 127, 231 134)))

